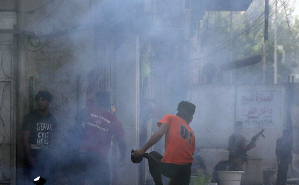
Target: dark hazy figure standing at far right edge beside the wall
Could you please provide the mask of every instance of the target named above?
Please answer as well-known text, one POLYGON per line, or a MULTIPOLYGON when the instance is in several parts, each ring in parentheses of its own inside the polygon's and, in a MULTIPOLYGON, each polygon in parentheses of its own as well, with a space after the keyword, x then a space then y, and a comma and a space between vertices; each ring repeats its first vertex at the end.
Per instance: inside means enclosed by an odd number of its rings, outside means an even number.
POLYGON ((275 153, 278 162, 278 172, 276 185, 285 185, 287 183, 287 171, 289 164, 292 163, 292 134, 290 130, 283 130, 282 137, 276 140, 275 153))

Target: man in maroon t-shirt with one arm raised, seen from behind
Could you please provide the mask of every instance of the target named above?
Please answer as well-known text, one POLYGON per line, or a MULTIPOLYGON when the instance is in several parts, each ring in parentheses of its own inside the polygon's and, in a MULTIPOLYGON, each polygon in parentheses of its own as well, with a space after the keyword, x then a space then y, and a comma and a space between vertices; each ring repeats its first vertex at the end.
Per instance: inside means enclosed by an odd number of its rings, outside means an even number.
MULTIPOLYGON (((125 165, 125 131, 116 116, 108 112, 111 107, 110 93, 100 91, 95 94, 95 86, 100 71, 93 69, 88 74, 88 89, 85 106, 85 130, 81 141, 80 179, 90 179, 93 184, 110 184, 110 169, 107 161, 112 136, 117 140, 121 157, 118 166, 125 165)), ((84 183, 84 182, 83 182, 84 183)))

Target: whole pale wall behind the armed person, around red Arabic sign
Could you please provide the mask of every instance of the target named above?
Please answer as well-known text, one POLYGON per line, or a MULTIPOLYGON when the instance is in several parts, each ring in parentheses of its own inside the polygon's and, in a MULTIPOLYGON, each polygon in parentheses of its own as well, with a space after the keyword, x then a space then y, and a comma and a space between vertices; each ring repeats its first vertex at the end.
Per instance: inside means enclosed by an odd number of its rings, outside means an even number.
MULTIPOLYGON (((198 85, 190 89, 190 101, 197 106, 190 126, 195 132, 197 146, 203 147, 199 154, 206 160, 210 172, 220 160, 228 159, 228 138, 234 133, 235 120, 244 122, 242 116, 240 116, 244 111, 248 111, 246 107, 240 105, 243 96, 245 96, 244 92, 259 92, 259 94, 271 92, 274 94, 271 104, 258 106, 259 110, 261 107, 267 106, 273 109, 273 112, 267 115, 269 119, 272 119, 273 124, 269 126, 262 123, 256 125, 243 123, 243 135, 246 140, 250 140, 264 128, 263 134, 266 137, 260 137, 256 143, 256 148, 249 150, 247 154, 254 159, 263 159, 263 170, 277 168, 275 143, 284 128, 284 88, 274 85, 237 87, 234 85, 198 85), (214 149, 216 149, 217 157, 211 154, 214 149)), ((256 105, 259 105, 259 103, 250 106, 254 107, 256 105)))

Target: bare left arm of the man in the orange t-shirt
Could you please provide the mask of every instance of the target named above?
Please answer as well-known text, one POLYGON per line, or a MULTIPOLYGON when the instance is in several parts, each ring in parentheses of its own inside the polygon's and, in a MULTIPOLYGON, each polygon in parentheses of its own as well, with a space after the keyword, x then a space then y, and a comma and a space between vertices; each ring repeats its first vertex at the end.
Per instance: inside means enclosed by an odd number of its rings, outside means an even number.
POLYGON ((162 123, 159 127, 159 130, 156 131, 150 139, 147 141, 147 143, 140 149, 136 149, 136 151, 133 153, 133 156, 135 158, 141 157, 145 154, 146 150, 148 150, 151 146, 153 146, 155 143, 157 143, 162 136, 166 133, 168 130, 168 125, 166 123, 162 123))

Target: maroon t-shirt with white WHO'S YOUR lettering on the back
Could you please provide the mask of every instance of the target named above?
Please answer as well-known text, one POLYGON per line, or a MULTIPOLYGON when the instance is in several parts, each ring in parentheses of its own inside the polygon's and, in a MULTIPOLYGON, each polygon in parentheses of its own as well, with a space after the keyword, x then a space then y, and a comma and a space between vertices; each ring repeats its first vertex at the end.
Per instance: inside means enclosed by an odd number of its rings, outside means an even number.
POLYGON ((85 131, 80 149, 96 152, 107 158, 112 135, 116 139, 125 135, 121 122, 110 112, 97 108, 92 99, 88 99, 85 131))

